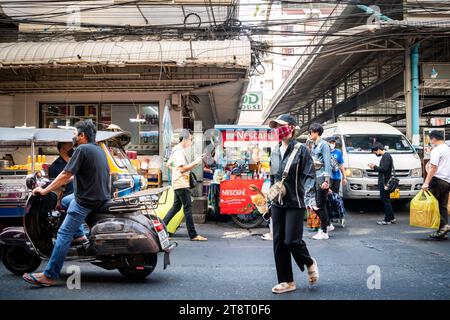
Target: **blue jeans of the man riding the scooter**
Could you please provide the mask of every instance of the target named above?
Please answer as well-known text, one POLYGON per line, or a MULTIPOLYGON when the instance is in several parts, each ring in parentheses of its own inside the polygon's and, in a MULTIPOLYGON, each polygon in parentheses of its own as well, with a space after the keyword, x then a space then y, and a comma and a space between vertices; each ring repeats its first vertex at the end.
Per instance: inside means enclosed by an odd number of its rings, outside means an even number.
POLYGON ((57 279, 70 248, 74 235, 79 232, 84 220, 92 209, 80 206, 76 200, 70 202, 66 218, 58 230, 52 256, 45 268, 44 275, 50 279, 57 279))

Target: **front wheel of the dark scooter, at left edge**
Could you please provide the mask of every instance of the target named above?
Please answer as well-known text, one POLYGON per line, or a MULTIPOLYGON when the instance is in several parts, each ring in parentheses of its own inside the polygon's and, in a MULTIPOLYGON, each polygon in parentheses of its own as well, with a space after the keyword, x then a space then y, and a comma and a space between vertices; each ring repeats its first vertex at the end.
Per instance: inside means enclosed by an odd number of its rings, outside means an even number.
POLYGON ((3 247, 2 261, 6 269, 18 276, 36 271, 41 265, 41 258, 22 246, 3 247))

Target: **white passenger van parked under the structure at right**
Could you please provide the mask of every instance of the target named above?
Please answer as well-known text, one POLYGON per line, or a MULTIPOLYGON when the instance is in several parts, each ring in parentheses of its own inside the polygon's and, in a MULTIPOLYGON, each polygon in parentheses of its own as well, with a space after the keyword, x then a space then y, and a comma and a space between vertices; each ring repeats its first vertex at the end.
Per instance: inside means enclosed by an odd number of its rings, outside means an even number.
POLYGON ((396 128, 380 122, 337 122, 324 127, 322 137, 336 138, 336 148, 342 150, 347 185, 344 199, 377 199, 378 173, 368 167, 378 165, 380 158, 371 153, 371 146, 381 142, 392 155, 400 179, 400 199, 413 198, 423 184, 422 164, 408 139, 396 128))

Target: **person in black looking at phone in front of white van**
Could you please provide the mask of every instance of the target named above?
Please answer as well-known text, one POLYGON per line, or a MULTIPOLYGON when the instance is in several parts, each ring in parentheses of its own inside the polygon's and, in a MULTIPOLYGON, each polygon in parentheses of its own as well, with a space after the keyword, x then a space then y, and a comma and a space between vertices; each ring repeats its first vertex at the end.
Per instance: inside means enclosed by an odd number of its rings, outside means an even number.
POLYGON ((390 193, 386 190, 386 185, 391 179, 392 172, 394 171, 394 160, 392 159, 392 156, 384 150, 384 146, 380 142, 376 142, 372 146, 372 153, 377 157, 381 157, 379 166, 369 163, 369 168, 378 172, 378 189, 380 190, 380 200, 383 202, 384 206, 384 219, 378 221, 377 224, 390 225, 397 222, 394 217, 394 209, 392 209, 390 193))

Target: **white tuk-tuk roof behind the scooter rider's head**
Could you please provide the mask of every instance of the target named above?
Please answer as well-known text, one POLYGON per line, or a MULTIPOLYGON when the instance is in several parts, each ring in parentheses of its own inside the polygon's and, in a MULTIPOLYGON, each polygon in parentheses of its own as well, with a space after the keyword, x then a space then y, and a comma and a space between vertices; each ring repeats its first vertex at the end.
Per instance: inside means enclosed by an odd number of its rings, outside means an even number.
MULTIPOLYGON (((0 146, 56 146, 58 142, 72 142, 72 129, 0 128, 0 146)), ((97 131, 97 142, 121 138, 124 144, 131 139, 129 132, 97 131)))

